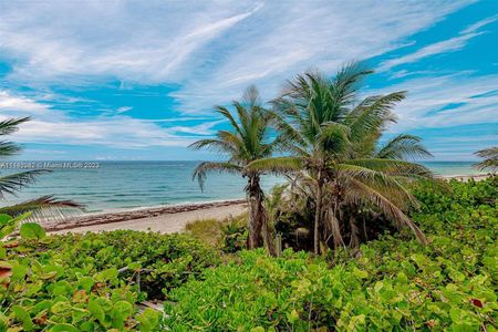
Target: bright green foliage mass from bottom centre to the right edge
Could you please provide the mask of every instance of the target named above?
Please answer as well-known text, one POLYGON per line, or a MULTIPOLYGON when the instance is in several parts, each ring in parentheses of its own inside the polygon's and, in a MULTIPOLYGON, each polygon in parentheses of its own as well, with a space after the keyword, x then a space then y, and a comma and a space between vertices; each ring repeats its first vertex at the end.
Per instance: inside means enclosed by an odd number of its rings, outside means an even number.
POLYGON ((422 247, 385 236, 329 260, 286 251, 206 270, 169 293, 174 331, 495 331, 497 178, 415 189, 422 247), (354 256, 354 257, 353 257, 354 256))

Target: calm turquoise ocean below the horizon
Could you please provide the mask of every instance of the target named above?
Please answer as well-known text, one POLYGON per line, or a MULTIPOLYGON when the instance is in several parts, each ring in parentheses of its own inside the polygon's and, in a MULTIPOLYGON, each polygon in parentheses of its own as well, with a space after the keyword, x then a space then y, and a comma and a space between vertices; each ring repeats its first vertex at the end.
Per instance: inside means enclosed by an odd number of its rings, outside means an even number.
MULTIPOLYGON (((15 163, 15 162, 13 162, 15 163)), ((29 166, 9 163, 10 166, 29 166)), ((199 162, 32 162, 52 168, 17 197, 6 196, 2 206, 54 195, 86 205, 87 212, 117 211, 164 205, 243 198, 245 179, 235 175, 211 174, 205 190, 191 179, 199 162), (44 164, 49 163, 49 164, 44 164), (62 164, 66 163, 66 164, 62 164)), ((438 175, 479 174, 468 162, 423 163, 438 175)), ((9 168, 9 167, 8 167, 9 168)), ((27 167, 29 168, 29 167, 27 167)), ((0 169, 2 175, 25 169, 0 169)), ((262 187, 269 190, 282 178, 266 176, 262 187)))

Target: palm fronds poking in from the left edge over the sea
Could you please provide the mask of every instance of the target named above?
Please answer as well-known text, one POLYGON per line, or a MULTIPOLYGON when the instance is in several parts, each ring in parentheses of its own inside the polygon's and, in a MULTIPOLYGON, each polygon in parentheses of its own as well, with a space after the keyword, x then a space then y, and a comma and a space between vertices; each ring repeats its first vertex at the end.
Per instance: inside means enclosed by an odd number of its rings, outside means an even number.
MULTIPOLYGON (((18 131, 19 125, 30 121, 30 117, 9 118, 0 122, 0 136, 10 135, 18 131)), ((18 154, 20 146, 10 141, 0 141, 0 158, 7 158, 18 154)), ((10 175, 0 176, 0 198, 6 195, 15 195, 23 187, 33 184, 35 177, 49 173, 46 169, 33 169, 10 175)), ((59 200, 52 196, 42 196, 32 200, 0 207, 0 214, 19 216, 32 211, 32 219, 64 218, 68 210, 82 209, 83 205, 72 200, 59 200)))

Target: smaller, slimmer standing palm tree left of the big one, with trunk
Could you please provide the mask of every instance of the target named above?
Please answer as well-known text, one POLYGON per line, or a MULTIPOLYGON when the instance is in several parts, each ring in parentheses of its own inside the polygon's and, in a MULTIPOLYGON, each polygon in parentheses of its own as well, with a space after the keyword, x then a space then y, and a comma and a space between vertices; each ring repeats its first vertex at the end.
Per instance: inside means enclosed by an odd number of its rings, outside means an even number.
POLYGON ((246 90, 240 102, 234 101, 232 107, 236 115, 224 106, 215 107, 216 112, 228 120, 229 131, 218 131, 216 138, 201 139, 190 145, 194 148, 206 147, 220 152, 228 156, 228 160, 201 163, 193 177, 197 177, 201 188, 209 172, 238 174, 247 178, 245 190, 249 209, 248 248, 266 243, 272 252, 268 216, 263 207, 263 191, 260 186, 261 172, 247 168, 253 160, 270 157, 277 147, 278 138, 270 137, 272 114, 262 107, 255 86, 246 90))

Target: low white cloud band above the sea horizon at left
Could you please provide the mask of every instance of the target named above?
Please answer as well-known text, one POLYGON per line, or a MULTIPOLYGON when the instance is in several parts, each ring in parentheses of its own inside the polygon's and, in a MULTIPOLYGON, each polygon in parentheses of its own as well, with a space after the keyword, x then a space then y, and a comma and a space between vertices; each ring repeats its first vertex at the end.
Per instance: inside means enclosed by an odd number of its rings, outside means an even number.
POLYGON ((38 144, 63 143, 125 148, 186 146, 196 141, 198 135, 212 135, 212 127, 219 123, 219 121, 208 121, 190 127, 162 127, 158 125, 163 122, 162 120, 139 120, 125 115, 72 118, 34 100, 12 96, 7 91, 0 92, 0 111, 2 111, 0 121, 34 113, 34 118, 22 124, 19 132, 13 134, 13 139, 20 143, 38 144), (185 136, 178 133, 191 135, 185 136))

